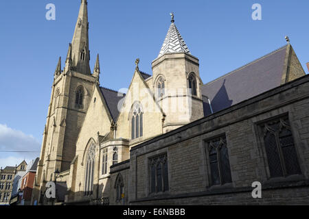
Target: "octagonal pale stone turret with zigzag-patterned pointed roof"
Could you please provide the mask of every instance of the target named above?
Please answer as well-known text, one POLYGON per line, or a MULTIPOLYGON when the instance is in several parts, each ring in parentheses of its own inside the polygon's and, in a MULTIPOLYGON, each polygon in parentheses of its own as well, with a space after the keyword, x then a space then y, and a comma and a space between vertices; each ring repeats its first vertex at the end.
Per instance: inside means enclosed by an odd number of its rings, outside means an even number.
POLYGON ((159 56, 152 62, 153 88, 163 108, 163 132, 171 131, 203 117, 203 100, 198 58, 191 55, 174 14, 159 56))

